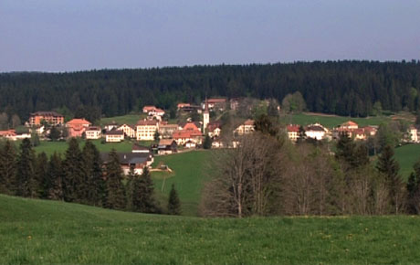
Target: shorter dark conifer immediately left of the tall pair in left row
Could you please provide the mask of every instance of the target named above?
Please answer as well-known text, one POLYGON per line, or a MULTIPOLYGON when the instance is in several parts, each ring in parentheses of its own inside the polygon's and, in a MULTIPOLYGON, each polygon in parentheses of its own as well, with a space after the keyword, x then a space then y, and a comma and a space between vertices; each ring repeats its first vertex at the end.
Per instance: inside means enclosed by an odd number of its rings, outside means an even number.
POLYGON ((47 191, 47 198, 53 200, 61 200, 63 196, 63 178, 64 172, 62 168, 63 162, 59 154, 54 152, 51 155, 47 167, 47 177, 44 180, 44 187, 47 191))

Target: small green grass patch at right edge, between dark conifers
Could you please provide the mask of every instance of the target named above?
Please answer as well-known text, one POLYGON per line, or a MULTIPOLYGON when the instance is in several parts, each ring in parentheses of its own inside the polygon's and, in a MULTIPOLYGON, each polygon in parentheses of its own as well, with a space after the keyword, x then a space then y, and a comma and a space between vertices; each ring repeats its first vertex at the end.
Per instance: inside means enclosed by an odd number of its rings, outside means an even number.
POLYGON ((413 171, 413 165, 420 160, 420 144, 406 144, 395 148, 395 159, 400 164, 400 174, 403 179, 413 171))

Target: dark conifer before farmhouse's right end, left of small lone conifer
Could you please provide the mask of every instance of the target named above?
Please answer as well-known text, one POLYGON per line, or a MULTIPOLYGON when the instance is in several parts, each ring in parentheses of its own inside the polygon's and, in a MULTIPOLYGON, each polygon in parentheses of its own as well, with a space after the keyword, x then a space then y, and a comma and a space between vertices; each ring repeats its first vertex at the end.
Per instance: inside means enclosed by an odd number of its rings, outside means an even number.
POLYGON ((132 189, 132 207, 136 212, 158 212, 153 197, 152 178, 147 166, 144 167, 142 175, 134 181, 132 189))

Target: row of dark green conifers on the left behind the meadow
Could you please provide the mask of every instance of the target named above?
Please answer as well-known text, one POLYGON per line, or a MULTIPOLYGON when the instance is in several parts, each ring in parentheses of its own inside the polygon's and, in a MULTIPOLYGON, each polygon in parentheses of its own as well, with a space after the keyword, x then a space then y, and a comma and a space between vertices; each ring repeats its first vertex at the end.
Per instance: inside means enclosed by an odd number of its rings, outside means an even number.
POLYGON ((131 168, 124 176, 115 151, 110 162, 102 164, 96 146, 87 141, 80 150, 76 138, 69 141, 63 158, 57 153, 49 159, 45 153, 36 155, 28 139, 17 151, 14 143, 0 144, 0 193, 142 213, 181 212, 174 187, 167 211, 159 206, 147 167, 142 175, 131 168))

